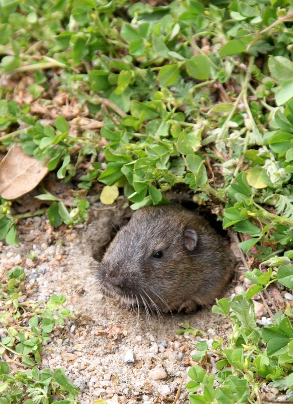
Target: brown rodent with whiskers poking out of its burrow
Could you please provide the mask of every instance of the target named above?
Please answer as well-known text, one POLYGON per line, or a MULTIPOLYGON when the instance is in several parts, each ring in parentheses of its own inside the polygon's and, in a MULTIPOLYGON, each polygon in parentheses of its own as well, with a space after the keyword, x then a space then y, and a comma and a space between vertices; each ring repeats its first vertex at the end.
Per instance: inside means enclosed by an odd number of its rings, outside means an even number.
POLYGON ((234 258, 202 216, 174 205, 141 208, 118 231, 96 277, 101 290, 153 311, 196 310, 220 297, 234 258))

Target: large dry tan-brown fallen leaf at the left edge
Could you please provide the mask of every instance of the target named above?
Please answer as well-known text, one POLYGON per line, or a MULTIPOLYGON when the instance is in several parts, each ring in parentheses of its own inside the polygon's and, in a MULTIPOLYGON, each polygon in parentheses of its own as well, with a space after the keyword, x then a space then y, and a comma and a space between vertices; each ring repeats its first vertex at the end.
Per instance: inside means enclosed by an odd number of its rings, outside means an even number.
POLYGON ((0 162, 0 195, 16 199, 31 191, 48 173, 46 165, 26 155, 15 144, 0 162))

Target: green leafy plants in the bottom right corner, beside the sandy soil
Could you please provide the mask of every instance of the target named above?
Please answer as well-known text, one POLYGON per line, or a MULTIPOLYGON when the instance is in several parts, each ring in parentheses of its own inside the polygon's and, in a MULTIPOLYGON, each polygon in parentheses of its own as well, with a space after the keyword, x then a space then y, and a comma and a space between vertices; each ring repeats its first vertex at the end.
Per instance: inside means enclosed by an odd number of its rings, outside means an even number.
POLYGON ((276 280, 281 282, 287 278, 292 282, 293 264, 287 257, 275 257, 270 263, 263 264, 273 267, 267 272, 255 269, 246 273, 254 286, 231 300, 217 300, 217 305, 213 306, 213 313, 230 320, 232 333, 227 342, 217 337, 211 345, 205 341, 196 344, 198 352, 192 359, 206 365, 211 357, 217 358, 217 373, 209 375, 205 365, 190 368, 191 380, 186 388, 192 393, 189 395, 192 404, 260 402, 260 389, 268 382, 287 394, 292 392, 293 328, 290 319, 279 311, 268 326, 260 328, 251 298, 276 280), (200 389, 202 394, 193 394, 200 389))

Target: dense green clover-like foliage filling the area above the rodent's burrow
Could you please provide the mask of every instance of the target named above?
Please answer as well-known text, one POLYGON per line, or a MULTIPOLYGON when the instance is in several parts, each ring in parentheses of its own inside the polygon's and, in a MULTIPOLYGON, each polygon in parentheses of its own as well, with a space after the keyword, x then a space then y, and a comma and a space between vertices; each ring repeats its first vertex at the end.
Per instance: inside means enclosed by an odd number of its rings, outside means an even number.
MULTIPOLYGON (((102 128, 76 136, 63 116, 44 125, 3 87, 5 145, 20 142, 65 182, 90 159, 78 186, 88 192, 96 181, 117 184, 132 209, 167 203, 164 191, 185 183, 202 199, 226 205, 224 227, 251 237, 240 243, 245 252, 265 239, 279 250, 292 242, 289 2, 32 4, 1 6, 0 69, 33 73, 29 92, 46 106, 50 83, 42 71, 59 68, 63 90, 86 103, 102 128), (11 131, 20 122, 27 127, 11 131), (95 161, 102 148, 103 168, 95 161), (221 168, 213 186, 208 161, 221 168)), ((86 218, 84 202, 68 212, 56 199, 47 211, 54 226, 86 218)), ((7 241, 16 242, 11 220, 7 241)))

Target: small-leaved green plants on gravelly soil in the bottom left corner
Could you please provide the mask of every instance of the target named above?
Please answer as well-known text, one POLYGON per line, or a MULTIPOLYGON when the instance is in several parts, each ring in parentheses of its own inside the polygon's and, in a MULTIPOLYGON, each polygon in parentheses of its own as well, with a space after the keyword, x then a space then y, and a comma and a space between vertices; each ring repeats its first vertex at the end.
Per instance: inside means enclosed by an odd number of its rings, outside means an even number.
POLYGON ((27 404, 50 404, 57 399, 77 403, 78 388, 65 376, 64 369, 39 369, 42 346, 55 327, 64 326, 71 317, 64 307, 66 298, 53 294, 44 305, 24 300, 25 283, 22 267, 10 270, 0 283, 0 298, 6 307, 0 323, 7 334, 0 342, 0 404, 24 400, 27 404))

